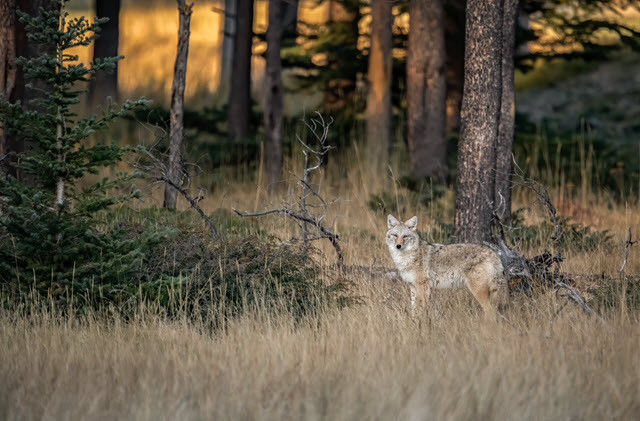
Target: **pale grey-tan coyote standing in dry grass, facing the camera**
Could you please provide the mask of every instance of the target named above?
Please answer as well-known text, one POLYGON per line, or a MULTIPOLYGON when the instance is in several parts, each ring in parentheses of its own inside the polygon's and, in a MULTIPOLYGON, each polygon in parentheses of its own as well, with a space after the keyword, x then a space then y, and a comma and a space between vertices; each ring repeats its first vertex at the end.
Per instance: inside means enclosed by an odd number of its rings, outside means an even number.
MULTIPOLYGON (((418 218, 387 218, 387 246, 402 280, 411 285, 411 307, 424 305, 432 288, 467 286, 485 314, 506 304, 507 281, 500 258, 477 244, 429 244, 416 233, 418 218)), ((500 313, 498 313, 500 314, 500 313)))

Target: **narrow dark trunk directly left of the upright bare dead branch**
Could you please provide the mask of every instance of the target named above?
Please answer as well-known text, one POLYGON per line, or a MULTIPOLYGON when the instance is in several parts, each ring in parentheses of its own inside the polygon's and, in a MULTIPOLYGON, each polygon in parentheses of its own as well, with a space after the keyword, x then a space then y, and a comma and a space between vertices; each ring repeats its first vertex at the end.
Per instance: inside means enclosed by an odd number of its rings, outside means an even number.
POLYGON ((283 30, 284 2, 269 0, 269 26, 265 71, 264 167, 269 190, 277 188, 282 175, 282 62, 280 46, 283 30))

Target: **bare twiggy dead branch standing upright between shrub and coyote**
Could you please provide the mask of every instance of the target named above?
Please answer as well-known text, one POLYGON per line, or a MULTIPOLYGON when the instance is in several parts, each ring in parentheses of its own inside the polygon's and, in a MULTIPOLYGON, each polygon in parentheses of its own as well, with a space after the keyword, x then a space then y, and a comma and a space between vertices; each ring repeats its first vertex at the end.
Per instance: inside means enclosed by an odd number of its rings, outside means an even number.
POLYGON ((329 128, 333 119, 325 120, 322 114, 316 112, 315 116, 309 120, 303 117, 302 123, 308 134, 311 135, 314 144, 307 143, 302 140, 300 135, 296 135, 296 140, 302 146, 304 170, 301 176, 292 174, 295 188, 293 191, 290 190, 290 197, 284 200, 280 207, 263 212, 240 212, 236 209, 233 211, 242 218, 271 214, 282 214, 289 217, 300 228, 300 238, 293 237, 289 241, 300 241, 302 246, 306 247, 311 241, 326 238, 336 251, 338 265, 342 266, 344 259, 339 244, 340 237, 333 229, 324 225, 328 206, 338 199, 325 200, 320 194, 322 179, 319 178, 317 183, 312 181, 314 174, 321 171, 327 154, 333 149, 328 143, 329 128))

